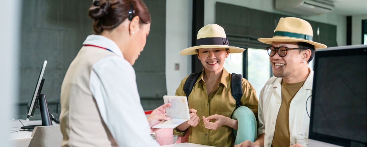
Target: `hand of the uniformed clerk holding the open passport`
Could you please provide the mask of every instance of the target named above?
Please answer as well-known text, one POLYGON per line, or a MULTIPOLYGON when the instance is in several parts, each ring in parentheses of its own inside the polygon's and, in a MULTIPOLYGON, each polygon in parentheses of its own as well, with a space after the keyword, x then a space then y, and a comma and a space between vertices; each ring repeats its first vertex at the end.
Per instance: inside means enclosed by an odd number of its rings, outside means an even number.
POLYGON ((162 120, 169 120, 170 117, 166 116, 166 108, 171 106, 171 103, 164 104, 157 109, 154 109, 152 113, 148 116, 149 127, 152 132, 159 130, 159 128, 152 128, 154 125, 158 124, 162 120))

